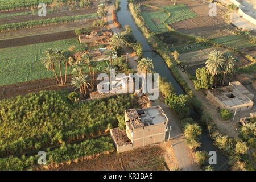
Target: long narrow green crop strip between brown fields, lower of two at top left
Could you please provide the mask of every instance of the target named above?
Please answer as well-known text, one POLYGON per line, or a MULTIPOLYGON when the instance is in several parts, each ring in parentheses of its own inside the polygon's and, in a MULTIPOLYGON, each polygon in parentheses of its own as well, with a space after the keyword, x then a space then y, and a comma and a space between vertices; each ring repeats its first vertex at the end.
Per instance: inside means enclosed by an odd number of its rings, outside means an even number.
POLYGON ((63 17, 56 17, 56 18, 31 20, 28 22, 20 22, 20 23, 2 24, 0 25, 0 32, 19 30, 21 28, 32 28, 32 27, 47 26, 52 24, 77 22, 79 20, 94 19, 94 18, 97 18, 97 15, 95 13, 87 14, 87 15, 63 16, 63 17))

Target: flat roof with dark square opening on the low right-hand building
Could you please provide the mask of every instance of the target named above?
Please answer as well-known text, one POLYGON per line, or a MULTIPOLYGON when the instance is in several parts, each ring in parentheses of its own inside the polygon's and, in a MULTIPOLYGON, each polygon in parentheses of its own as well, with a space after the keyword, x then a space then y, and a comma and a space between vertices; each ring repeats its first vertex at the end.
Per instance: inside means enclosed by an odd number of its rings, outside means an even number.
POLYGON ((250 93, 239 81, 230 82, 229 86, 210 90, 210 92, 231 107, 253 102, 254 94, 250 93))

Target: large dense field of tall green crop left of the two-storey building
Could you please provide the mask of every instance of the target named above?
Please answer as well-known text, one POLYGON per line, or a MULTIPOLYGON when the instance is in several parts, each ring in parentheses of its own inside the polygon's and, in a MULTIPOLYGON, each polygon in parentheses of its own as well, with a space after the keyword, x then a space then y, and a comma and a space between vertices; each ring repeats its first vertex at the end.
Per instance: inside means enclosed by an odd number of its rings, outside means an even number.
POLYGON ((71 102, 68 92, 37 92, 0 101, 0 156, 42 150, 108 133, 117 114, 136 106, 132 95, 71 102))

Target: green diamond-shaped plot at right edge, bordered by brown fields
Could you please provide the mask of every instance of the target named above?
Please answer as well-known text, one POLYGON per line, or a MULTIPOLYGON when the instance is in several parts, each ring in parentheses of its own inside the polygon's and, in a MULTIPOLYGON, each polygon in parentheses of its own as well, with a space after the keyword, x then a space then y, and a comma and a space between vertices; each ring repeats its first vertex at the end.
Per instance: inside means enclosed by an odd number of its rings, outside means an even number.
POLYGON ((246 40, 245 38, 243 38, 240 35, 225 36, 222 38, 216 38, 216 39, 212 39, 212 40, 213 40, 213 42, 216 42, 218 44, 223 44, 225 46, 230 46, 230 47, 238 48, 238 49, 256 46, 255 44, 253 44, 249 40, 246 40))

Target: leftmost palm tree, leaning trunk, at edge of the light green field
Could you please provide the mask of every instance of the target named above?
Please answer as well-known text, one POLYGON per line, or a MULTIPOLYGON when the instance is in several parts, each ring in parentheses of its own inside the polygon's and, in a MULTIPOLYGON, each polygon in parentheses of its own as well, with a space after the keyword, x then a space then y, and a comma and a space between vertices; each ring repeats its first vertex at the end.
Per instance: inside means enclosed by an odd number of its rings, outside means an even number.
POLYGON ((46 67, 47 71, 48 70, 53 71, 57 82, 60 84, 59 78, 57 76, 57 72, 55 70, 56 59, 55 59, 54 51, 52 49, 47 49, 46 52, 44 53, 44 55, 46 57, 42 58, 42 64, 46 67))

